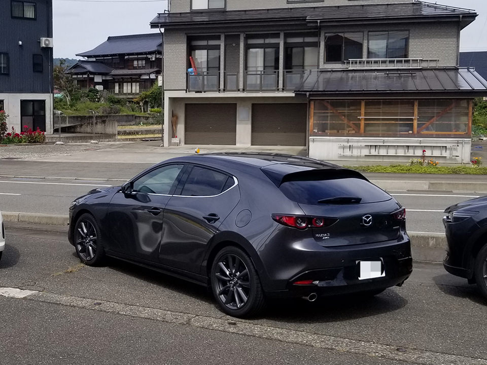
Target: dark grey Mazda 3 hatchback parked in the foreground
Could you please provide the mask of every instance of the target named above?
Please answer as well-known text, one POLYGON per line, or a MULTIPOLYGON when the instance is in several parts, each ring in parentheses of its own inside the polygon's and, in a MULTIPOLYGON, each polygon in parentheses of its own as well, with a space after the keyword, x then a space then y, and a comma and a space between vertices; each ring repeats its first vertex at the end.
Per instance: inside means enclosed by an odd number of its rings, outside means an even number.
POLYGON ((69 215, 82 262, 108 255, 208 285, 236 317, 267 298, 378 294, 412 271, 405 209, 356 171, 298 156, 170 159, 69 215))

